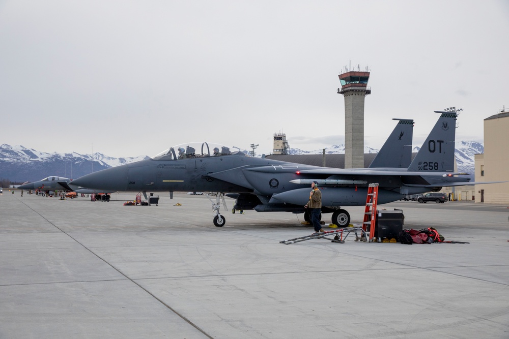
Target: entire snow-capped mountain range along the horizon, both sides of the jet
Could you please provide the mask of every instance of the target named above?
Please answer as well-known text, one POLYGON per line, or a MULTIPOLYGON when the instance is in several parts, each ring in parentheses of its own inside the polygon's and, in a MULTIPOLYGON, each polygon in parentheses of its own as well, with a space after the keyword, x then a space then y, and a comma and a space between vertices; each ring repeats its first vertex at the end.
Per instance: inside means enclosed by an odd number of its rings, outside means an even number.
MULTIPOLYGON (((458 171, 474 174, 474 155, 484 152, 484 145, 475 141, 460 141, 455 150, 458 171)), ((235 147, 238 148, 238 147, 235 147)), ((240 151, 248 153, 247 150, 240 151)), ((414 147, 417 152, 419 147, 414 147)), ((327 154, 345 153, 345 145, 332 145, 325 149, 327 154)), ((364 147, 364 153, 378 153, 378 149, 364 147)), ((291 155, 322 154, 322 149, 305 151, 298 148, 290 149, 291 155)), ((257 154, 257 157, 261 157, 257 154)), ((36 181, 50 175, 77 178, 101 169, 129 164, 149 159, 148 156, 129 158, 112 158, 96 152, 93 154, 45 153, 23 146, 0 146, 0 178, 11 181, 36 181)))

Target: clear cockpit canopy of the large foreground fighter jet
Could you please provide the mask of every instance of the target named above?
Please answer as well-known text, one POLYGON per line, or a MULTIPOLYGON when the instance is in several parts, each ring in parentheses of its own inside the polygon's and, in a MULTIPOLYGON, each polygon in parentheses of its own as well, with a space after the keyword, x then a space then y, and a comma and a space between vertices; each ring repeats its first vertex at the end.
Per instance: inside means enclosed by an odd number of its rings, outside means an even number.
POLYGON ((219 157, 235 154, 238 153, 239 151, 240 149, 237 147, 228 147, 215 143, 189 142, 169 147, 168 149, 158 153, 151 159, 178 160, 188 158, 219 157))

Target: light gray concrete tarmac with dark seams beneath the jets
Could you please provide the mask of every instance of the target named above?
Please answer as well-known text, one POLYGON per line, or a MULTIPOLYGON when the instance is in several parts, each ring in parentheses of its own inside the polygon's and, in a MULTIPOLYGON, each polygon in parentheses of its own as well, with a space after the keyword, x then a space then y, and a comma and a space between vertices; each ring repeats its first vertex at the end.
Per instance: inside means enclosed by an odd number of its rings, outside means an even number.
MULTIPOLYGON (((468 244, 285 245, 313 232, 302 214, 232 214, 227 198, 215 227, 205 196, 160 196, 4 190, 0 338, 509 337, 507 206, 379 206, 468 244)), ((346 209, 359 226, 364 206, 346 209)))

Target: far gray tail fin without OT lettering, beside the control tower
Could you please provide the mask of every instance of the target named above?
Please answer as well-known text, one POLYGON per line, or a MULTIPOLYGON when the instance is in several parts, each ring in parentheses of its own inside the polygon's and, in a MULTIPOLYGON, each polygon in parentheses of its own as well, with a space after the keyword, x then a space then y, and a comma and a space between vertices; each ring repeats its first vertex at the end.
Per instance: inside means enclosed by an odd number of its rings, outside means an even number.
POLYGON ((370 168, 390 167, 408 168, 412 161, 412 134, 413 119, 392 119, 399 120, 396 127, 387 138, 377 156, 370 165, 370 168))

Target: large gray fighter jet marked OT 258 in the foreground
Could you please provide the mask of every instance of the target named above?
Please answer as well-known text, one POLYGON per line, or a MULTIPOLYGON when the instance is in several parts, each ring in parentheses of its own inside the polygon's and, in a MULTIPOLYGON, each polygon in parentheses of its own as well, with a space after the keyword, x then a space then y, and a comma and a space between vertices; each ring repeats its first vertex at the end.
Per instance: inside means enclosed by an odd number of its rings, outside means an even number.
MULTIPOLYGON (((350 215, 341 207, 364 205, 370 183, 379 183, 378 204, 410 194, 439 191, 443 186, 475 184, 466 173, 454 173, 458 114, 435 112, 441 114, 440 118, 408 168, 338 169, 302 165, 253 158, 226 146, 217 146, 211 152, 214 145, 203 142, 169 147, 149 160, 91 173, 75 179, 73 184, 145 195, 146 192, 170 192, 170 196, 173 192, 211 192, 208 196, 216 196, 213 223, 220 227, 225 224, 219 201, 221 198, 224 203, 224 194, 235 194, 235 209, 303 213, 309 184, 318 181, 322 213, 332 212, 332 223, 344 227, 350 223, 350 215)), ((408 150, 401 153, 405 152, 408 150)))

